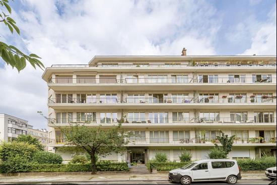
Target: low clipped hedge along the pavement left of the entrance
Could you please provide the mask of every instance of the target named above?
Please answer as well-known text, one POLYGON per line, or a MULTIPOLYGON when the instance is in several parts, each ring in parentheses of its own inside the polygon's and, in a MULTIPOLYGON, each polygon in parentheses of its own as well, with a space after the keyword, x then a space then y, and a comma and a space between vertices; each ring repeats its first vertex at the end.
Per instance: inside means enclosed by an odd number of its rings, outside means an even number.
MULTIPOLYGON (((0 164, 0 173, 7 172, 86 172, 91 171, 91 164, 34 164, 24 166, 24 169, 9 171, 9 166, 0 164)), ((96 164, 97 171, 128 171, 127 163, 122 162, 99 162, 96 164)))

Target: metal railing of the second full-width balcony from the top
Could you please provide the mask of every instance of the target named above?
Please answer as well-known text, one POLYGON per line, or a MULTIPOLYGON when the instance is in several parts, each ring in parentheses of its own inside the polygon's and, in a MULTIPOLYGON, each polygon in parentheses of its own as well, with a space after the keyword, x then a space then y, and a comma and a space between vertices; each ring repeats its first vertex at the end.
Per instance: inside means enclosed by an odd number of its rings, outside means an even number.
POLYGON ((48 98, 48 103, 84 103, 84 104, 156 104, 156 103, 166 103, 166 104, 185 104, 185 103, 253 103, 253 104, 265 104, 265 103, 276 103, 275 96, 265 96, 265 97, 206 97, 206 98, 48 98))

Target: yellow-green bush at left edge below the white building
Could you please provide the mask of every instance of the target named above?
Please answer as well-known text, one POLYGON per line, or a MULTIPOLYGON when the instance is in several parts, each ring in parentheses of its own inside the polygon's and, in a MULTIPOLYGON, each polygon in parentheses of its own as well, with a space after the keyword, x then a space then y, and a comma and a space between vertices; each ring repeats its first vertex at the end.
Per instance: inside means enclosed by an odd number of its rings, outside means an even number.
POLYGON ((13 158, 18 154, 22 158, 31 161, 34 153, 37 151, 35 145, 30 145, 26 142, 3 142, 0 145, 0 159, 7 161, 9 158, 13 158))

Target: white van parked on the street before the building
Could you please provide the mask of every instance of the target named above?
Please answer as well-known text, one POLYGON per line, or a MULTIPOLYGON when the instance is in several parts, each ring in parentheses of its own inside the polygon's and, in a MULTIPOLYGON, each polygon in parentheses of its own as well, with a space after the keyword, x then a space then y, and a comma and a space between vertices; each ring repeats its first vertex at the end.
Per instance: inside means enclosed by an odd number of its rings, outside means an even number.
POLYGON ((235 184, 241 179, 241 174, 236 160, 206 159, 173 169, 169 171, 168 178, 182 184, 194 181, 227 181, 235 184))

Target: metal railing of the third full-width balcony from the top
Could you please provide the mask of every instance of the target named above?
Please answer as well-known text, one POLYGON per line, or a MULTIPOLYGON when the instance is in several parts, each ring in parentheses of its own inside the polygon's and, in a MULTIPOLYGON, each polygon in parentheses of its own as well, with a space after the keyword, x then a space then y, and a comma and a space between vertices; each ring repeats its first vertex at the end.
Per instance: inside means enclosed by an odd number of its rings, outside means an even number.
POLYGON ((79 118, 48 118, 48 124, 274 124, 275 117, 140 117, 140 118, 116 118, 116 117, 79 117, 79 118))

